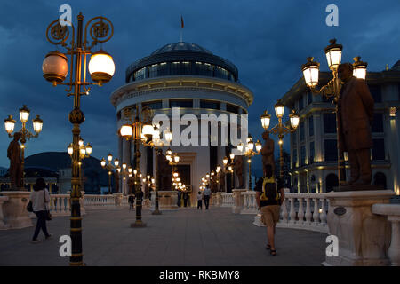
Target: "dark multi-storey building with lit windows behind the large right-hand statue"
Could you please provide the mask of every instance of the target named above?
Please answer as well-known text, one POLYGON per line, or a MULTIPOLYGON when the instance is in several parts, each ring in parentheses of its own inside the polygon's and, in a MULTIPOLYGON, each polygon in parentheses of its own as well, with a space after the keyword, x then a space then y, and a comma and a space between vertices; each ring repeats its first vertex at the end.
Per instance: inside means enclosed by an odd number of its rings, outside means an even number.
MULTIPOLYGON (((330 75, 321 72, 319 83, 324 85, 331 79, 330 75)), ((386 188, 399 193, 400 61, 391 69, 368 72, 366 81, 375 101, 372 183, 386 185, 386 188)), ((291 134, 292 191, 315 193, 332 190, 338 184, 335 106, 319 95, 312 95, 303 78, 284 95, 282 102, 300 114, 300 125, 291 134)), ((348 162, 346 169, 349 177, 348 162)))

